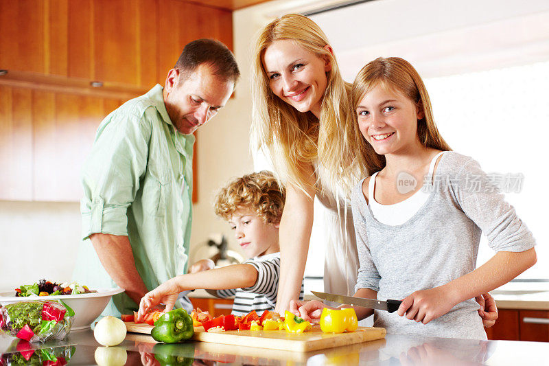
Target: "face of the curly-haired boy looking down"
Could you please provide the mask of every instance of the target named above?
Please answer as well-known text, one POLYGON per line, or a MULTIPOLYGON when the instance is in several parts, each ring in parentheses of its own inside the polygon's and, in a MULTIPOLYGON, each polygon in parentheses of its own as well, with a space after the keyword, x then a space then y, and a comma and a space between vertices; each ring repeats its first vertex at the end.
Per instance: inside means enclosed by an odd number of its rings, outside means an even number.
POLYGON ((239 207, 229 225, 248 258, 280 251, 279 224, 266 224, 252 209, 239 207))

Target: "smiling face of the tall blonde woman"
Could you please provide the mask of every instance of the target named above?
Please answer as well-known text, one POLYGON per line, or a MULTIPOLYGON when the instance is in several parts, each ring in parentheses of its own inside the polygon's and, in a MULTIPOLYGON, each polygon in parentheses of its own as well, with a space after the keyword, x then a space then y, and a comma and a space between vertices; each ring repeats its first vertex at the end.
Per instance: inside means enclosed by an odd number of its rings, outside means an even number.
POLYGON ((263 55, 263 67, 274 95, 301 113, 320 115, 331 66, 290 40, 274 41, 263 55))

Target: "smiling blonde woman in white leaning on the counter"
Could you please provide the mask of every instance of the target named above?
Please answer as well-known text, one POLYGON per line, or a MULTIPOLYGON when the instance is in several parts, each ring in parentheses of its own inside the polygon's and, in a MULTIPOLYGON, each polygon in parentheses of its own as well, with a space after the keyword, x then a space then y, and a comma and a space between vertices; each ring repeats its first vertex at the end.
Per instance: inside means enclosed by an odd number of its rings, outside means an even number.
MULTIPOLYGON (((352 295, 359 262, 349 194, 369 174, 366 166, 382 161, 352 122, 351 84, 342 79, 320 27, 297 14, 272 21, 259 34, 253 79, 252 148, 270 157, 286 186, 275 310, 283 312, 298 299, 314 214, 324 230, 318 235, 323 243, 314 245, 325 251, 325 290, 352 295), (314 197, 320 212, 314 213, 314 197)), ((487 313, 486 325, 495 318, 497 312, 487 313)))

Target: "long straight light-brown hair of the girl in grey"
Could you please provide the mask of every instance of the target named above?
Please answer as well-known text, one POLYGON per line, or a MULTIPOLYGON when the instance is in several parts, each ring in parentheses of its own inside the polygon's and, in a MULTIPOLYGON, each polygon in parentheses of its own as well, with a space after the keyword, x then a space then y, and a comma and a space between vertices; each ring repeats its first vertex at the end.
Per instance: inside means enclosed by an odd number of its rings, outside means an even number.
POLYGON ((423 111, 424 117, 417 121, 417 135, 423 146, 442 151, 452 150, 439 133, 439 129, 436 128, 429 94, 416 69, 410 65, 410 62, 402 58, 379 57, 362 67, 353 82, 353 89, 351 89, 353 126, 355 126, 357 136, 360 137, 360 141, 357 141, 353 148, 356 154, 369 157, 366 159, 366 170, 370 174, 385 167, 385 157, 377 155, 372 146, 362 137, 358 130, 358 117, 354 111, 364 95, 379 84, 384 84, 386 87, 403 93, 423 111))

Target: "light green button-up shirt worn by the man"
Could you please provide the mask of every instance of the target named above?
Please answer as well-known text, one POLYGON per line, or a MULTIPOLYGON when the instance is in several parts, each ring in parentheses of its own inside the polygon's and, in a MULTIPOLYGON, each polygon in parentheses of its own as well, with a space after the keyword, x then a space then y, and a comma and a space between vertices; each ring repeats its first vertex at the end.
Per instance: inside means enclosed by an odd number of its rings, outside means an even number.
MULTIPOLYGON (((187 270, 195 138, 177 132, 162 92, 157 84, 124 103, 97 130, 82 170, 84 241, 73 275, 81 286, 116 286, 88 239, 92 233, 128 236, 135 266, 149 290, 187 270)), ((122 293, 102 315, 138 307, 122 293)))

